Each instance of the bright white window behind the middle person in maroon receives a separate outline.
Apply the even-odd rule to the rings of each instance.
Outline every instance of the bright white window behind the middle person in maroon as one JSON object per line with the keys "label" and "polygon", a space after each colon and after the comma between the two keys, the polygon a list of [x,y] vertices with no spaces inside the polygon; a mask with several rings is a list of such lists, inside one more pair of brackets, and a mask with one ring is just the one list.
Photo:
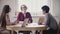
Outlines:
{"label": "bright white window behind the middle person in maroon", "polygon": [[41,7],[44,5],[48,5],[48,0],[18,0],[19,11],[21,5],[23,4],[28,7],[27,11],[30,12],[32,16],[41,16]]}

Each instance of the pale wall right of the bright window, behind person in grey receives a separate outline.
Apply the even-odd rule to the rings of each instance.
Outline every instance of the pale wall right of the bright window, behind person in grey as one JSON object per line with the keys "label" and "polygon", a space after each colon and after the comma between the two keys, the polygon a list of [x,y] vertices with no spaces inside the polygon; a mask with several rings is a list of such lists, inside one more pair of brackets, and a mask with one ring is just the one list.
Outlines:
{"label": "pale wall right of the bright window, behind person in grey", "polygon": [[60,0],[52,0],[52,14],[60,21]]}

